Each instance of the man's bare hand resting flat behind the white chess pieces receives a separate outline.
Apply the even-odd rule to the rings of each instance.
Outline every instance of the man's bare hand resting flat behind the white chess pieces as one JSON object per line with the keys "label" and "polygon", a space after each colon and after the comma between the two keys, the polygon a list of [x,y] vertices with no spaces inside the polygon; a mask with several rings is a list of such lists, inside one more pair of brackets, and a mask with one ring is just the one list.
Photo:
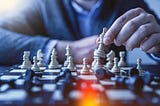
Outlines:
{"label": "man's bare hand resting flat behind the white chess pieces", "polygon": [[91,36],[83,38],[77,41],[59,41],[56,49],[58,52],[58,59],[60,62],[65,60],[65,48],[67,45],[71,47],[71,54],[75,64],[82,63],[84,57],[87,58],[87,62],[90,64],[93,59],[93,52],[97,48],[96,39],[98,36]]}

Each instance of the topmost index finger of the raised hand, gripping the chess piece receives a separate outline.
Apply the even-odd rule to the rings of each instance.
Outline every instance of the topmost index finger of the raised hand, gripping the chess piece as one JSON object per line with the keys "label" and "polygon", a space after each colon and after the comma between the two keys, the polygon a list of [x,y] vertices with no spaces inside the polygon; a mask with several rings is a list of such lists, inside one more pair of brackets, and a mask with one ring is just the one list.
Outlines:
{"label": "topmost index finger of the raised hand, gripping the chess piece", "polygon": [[123,14],[121,17],[119,17],[109,28],[109,30],[106,32],[104,36],[104,44],[108,45],[113,43],[114,39],[116,38],[117,34],[120,32],[122,27],[131,19],[134,17],[137,17],[141,13],[145,13],[145,11],[141,8],[132,9],[125,14]]}

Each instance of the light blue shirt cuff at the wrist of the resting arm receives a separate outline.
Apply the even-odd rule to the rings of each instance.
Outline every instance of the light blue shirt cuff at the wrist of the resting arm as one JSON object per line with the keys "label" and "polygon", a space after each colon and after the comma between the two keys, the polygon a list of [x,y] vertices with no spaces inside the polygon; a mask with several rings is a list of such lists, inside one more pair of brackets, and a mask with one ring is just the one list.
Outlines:
{"label": "light blue shirt cuff at the wrist of the resting arm", "polygon": [[58,40],[50,40],[47,45],[45,46],[44,48],[44,61],[46,64],[49,64],[49,61],[50,61],[50,56],[51,56],[51,53],[52,53],[52,50],[53,48],[56,47],[56,44],[57,44]]}

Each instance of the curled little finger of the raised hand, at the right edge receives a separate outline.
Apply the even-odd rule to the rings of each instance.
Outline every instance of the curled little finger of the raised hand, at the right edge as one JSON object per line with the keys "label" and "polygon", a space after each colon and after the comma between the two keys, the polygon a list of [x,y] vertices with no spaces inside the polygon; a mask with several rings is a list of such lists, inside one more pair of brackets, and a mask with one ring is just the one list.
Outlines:
{"label": "curled little finger of the raised hand, at the right edge", "polygon": [[160,33],[151,35],[140,45],[140,48],[149,53],[158,51],[160,49]]}

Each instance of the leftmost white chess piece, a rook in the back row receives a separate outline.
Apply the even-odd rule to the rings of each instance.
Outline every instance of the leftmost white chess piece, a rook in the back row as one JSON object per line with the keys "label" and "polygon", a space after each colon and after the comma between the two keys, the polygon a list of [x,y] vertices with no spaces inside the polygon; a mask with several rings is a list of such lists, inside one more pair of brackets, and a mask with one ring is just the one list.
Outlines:
{"label": "leftmost white chess piece, a rook in the back row", "polygon": [[31,61],[29,60],[29,57],[30,57],[30,51],[24,51],[24,54],[23,54],[23,63],[20,66],[21,69],[31,68],[32,64],[31,64]]}

